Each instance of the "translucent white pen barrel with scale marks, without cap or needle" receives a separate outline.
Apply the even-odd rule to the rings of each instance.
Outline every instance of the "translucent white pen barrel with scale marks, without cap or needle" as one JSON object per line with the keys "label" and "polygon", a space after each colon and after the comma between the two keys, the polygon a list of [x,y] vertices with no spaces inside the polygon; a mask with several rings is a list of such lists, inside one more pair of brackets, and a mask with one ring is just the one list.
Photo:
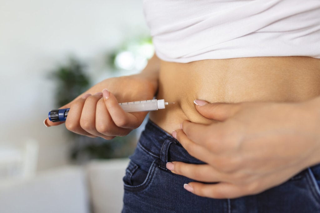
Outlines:
{"label": "translucent white pen barrel with scale marks, without cap or needle", "polygon": [[156,99],[119,103],[119,105],[125,112],[145,112],[158,110],[158,101]]}

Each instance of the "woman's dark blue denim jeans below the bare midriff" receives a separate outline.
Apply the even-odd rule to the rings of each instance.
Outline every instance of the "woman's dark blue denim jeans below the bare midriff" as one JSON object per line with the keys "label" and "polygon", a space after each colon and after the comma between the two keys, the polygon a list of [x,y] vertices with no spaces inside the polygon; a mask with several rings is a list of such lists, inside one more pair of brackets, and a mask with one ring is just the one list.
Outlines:
{"label": "woman's dark blue denim jeans below the bare midriff", "polygon": [[183,188],[191,179],[173,174],[165,165],[172,161],[203,162],[151,121],[130,159],[123,178],[122,212],[320,212],[320,164],[260,194],[237,199],[200,197]]}

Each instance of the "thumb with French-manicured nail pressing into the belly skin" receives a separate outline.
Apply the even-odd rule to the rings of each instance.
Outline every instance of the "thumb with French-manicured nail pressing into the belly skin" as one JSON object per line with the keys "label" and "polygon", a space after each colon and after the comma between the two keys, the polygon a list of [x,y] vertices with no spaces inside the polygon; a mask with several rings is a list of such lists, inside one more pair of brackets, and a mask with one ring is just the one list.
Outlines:
{"label": "thumb with French-manicured nail pressing into the belly skin", "polygon": [[216,121],[224,121],[234,114],[236,114],[241,105],[227,104],[227,103],[208,103],[204,100],[195,100],[196,109],[198,112],[206,118],[213,119]]}

